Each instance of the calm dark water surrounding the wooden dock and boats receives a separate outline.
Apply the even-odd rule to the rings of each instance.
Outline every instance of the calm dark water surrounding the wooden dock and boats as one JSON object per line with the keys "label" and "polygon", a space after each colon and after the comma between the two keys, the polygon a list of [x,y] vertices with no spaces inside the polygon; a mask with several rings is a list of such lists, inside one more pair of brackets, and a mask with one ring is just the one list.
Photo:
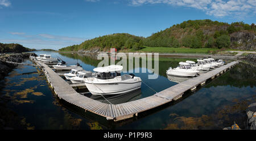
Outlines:
{"label": "calm dark water surrounding the wooden dock and boats", "polygon": [[[35,52],[51,54],[66,61],[68,65],[80,63],[85,70],[93,71],[101,60],[95,56],[79,56],[71,53]],[[148,80],[147,73],[134,73],[141,77],[152,89],[160,92],[177,82],[166,76],[169,67],[176,67],[180,61],[196,59],[177,59],[159,57],[159,77]],[[27,60],[26,63],[31,63]],[[142,68],[135,68],[141,70]],[[193,93],[187,93],[177,102],[139,113],[139,116],[121,122],[106,121],[98,115],[84,113],[83,110],[59,101],[49,89],[44,76],[32,66],[19,66],[0,81],[2,119],[14,128],[27,129],[222,129],[234,121],[243,128],[246,121],[245,109],[256,101],[255,67],[240,63],[229,72],[207,82]],[[177,79],[177,78],[176,78]],[[176,80],[175,79],[175,80]],[[178,78],[179,79],[179,78]],[[127,102],[155,94],[142,83],[141,90],[113,102]],[[88,94],[88,97],[90,94]],[[8,121],[9,120],[9,121]]]}

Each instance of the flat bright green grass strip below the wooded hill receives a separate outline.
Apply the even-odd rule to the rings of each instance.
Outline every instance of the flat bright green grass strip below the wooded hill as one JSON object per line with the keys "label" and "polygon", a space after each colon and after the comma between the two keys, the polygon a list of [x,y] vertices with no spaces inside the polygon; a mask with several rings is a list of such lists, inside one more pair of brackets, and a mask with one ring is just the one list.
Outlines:
{"label": "flat bright green grass strip below the wooded hill", "polygon": [[141,52],[159,52],[159,53],[204,53],[216,52],[218,48],[171,48],[171,47],[144,47],[138,51]]}

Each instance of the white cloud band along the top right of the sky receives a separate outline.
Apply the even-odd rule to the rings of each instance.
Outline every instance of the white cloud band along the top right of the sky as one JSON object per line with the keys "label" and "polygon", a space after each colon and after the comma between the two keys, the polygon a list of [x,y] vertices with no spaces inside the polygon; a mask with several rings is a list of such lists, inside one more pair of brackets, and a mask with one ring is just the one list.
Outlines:
{"label": "white cloud band along the top right of the sky", "polygon": [[130,0],[130,3],[133,6],[162,3],[172,6],[192,7],[217,17],[242,17],[256,13],[256,0]]}

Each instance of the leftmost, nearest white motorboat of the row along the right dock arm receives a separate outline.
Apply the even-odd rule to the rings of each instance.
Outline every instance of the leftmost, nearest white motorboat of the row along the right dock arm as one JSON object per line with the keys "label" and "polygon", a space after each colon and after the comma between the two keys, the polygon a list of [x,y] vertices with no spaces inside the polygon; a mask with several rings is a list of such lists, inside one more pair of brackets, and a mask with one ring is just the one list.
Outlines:
{"label": "leftmost, nearest white motorboat of the row along the right dock arm", "polygon": [[171,67],[166,71],[166,74],[171,76],[182,76],[182,77],[190,77],[199,75],[199,71],[196,69],[192,69],[190,64],[180,62],[179,67],[172,69]]}

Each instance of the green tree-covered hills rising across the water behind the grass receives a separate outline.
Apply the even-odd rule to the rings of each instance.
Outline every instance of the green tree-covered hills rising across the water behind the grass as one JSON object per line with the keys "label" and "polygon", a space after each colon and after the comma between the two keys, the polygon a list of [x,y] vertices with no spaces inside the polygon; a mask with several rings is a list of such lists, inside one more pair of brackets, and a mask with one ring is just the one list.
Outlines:
{"label": "green tree-covered hills rising across the water behind the grass", "polygon": [[[230,35],[238,31],[250,32],[255,35],[256,27],[254,24],[243,22],[228,24],[209,19],[187,20],[156,32],[147,38],[130,34],[111,34],[61,48],[59,51],[79,51],[93,47],[98,47],[101,50],[117,48],[118,51],[122,49],[138,51],[144,47],[230,48],[238,45],[230,40]],[[255,43],[255,40],[253,42]]]}

